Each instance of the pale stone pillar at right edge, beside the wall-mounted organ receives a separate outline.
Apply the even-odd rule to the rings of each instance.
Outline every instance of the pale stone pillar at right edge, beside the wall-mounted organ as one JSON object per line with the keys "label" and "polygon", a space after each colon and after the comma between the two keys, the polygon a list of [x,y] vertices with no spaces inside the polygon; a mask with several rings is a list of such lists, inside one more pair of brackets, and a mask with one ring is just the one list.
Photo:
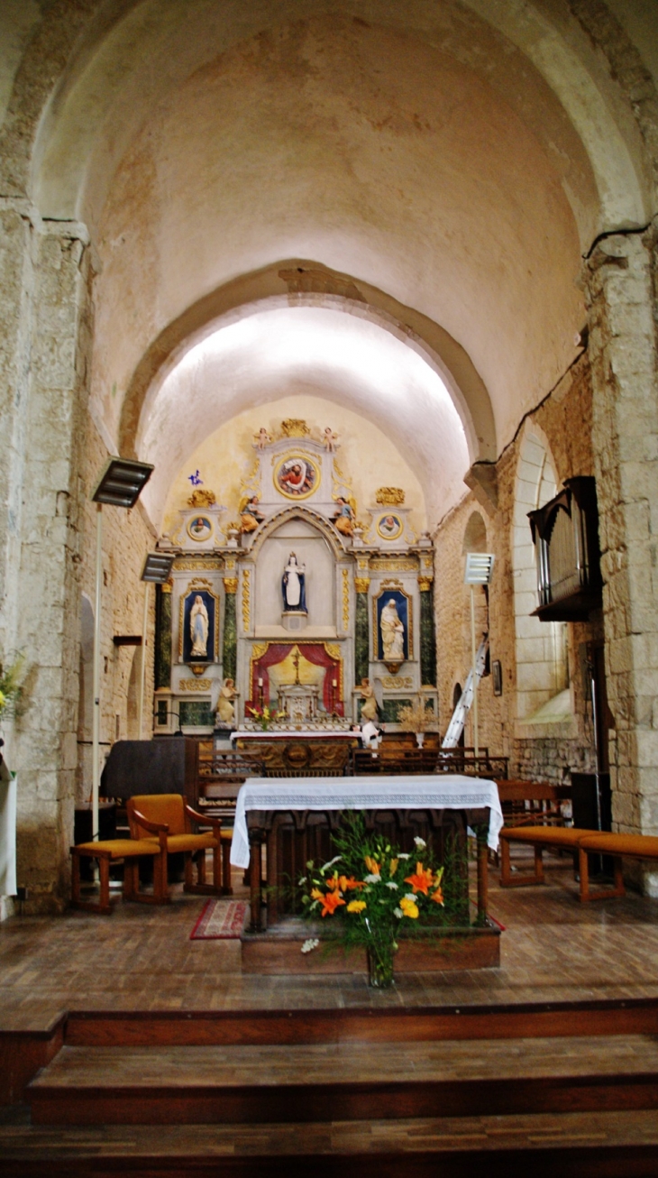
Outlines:
{"label": "pale stone pillar at right edge, beside the wall-mounted organ", "polygon": [[593,450],[614,717],[613,825],[658,834],[656,232],[601,240],[585,266]]}

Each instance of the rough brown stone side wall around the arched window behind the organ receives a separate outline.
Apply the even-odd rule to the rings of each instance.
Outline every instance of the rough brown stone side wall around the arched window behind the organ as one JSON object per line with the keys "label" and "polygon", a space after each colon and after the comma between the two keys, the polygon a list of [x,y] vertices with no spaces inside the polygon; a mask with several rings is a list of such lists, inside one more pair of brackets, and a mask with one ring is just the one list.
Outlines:
{"label": "rough brown stone side wall around the arched window behind the organ", "polygon": [[[477,633],[488,629],[490,657],[499,660],[503,670],[503,694],[494,696],[492,676],[485,676],[479,690],[479,743],[491,753],[510,757],[510,773],[534,780],[560,782],[569,770],[589,772],[593,768],[593,734],[590,706],[585,697],[583,677],[583,647],[603,636],[601,620],[570,623],[567,630],[569,697],[565,714],[561,707],[549,715],[537,716],[526,709],[525,701],[536,699],[537,706],[550,701],[563,684],[541,690],[543,681],[532,683],[529,674],[541,673],[541,651],[533,643],[547,641],[551,627],[533,623],[527,664],[519,663],[523,655],[523,616],[516,608],[518,569],[514,568],[513,545],[518,531],[530,537],[526,517],[527,503],[519,505],[519,485],[525,474],[524,439],[533,436],[545,441],[554,465],[558,485],[573,475],[590,475],[593,468],[592,389],[586,355],[577,362],[543,404],[521,424],[514,442],[507,446],[496,468],[497,508],[488,502],[488,511],[473,492],[441,523],[436,535],[436,609],[437,650],[440,691],[440,728],[445,732],[452,714],[454,683],[464,687],[471,666],[470,590],[464,584],[464,554],[468,550],[473,530],[473,514],[478,512],[486,530],[486,550],[494,554],[488,608],[483,589],[476,590]],[[538,475],[540,477],[540,475]],[[478,548],[483,550],[483,544]],[[536,575],[532,583],[521,587],[527,614],[537,604]],[[529,591],[526,591],[529,590]],[[487,624],[488,620],[488,624]],[[546,635],[546,640],[543,635]],[[519,641],[520,635],[520,641]],[[519,686],[519,669],[526,675]],[[550,682],[550,681],[549,681]],[[536,688],[532,693],[529,689]],[[472,716],[465,729],[466,744],[473,743]]]}

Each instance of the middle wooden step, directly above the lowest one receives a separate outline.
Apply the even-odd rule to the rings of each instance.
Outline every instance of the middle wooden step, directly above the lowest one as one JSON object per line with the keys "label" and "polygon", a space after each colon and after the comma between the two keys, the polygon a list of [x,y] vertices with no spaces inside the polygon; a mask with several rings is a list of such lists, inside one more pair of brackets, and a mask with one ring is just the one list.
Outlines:
{"label": "middle wooden step, directly above the lowest one", "polygon": [[650,1035],[208,1047],[65,1046],[38,1125],[239,1124],[658,1108]]}

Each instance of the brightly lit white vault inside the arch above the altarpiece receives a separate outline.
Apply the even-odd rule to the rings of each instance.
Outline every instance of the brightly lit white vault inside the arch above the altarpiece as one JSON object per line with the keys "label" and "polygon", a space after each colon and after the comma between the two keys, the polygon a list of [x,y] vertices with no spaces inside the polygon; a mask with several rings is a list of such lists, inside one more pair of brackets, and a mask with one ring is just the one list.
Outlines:
{"label": "brightly lit white vault inside the arch above the altarpiece", "polygon": [[155,465],[142,495],[155,525],[172,475],[208,434],[246,405],[294,393],[345,406],[391,438],[420,482],[430,527],[461,495],[464,428],[426,360],[366,319],[326,307],[278,307],[218,327],[145,405],[138,450]]}

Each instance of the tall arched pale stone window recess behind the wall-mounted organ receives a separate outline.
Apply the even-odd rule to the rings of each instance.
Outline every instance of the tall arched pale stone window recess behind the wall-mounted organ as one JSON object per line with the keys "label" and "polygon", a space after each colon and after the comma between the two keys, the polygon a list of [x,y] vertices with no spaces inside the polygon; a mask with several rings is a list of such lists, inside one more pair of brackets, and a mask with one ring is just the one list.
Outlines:
{"label": "tall arched pale stone window recess behind the wall-mounted organ", "polygon": [[517,716],[530,719],[541,704],[569,686],[565,622],[540,622],[537,609],[537,560],[527,512],[543,507],[558,490],[549,439],[526,423],[519,445],[512,522]]}

